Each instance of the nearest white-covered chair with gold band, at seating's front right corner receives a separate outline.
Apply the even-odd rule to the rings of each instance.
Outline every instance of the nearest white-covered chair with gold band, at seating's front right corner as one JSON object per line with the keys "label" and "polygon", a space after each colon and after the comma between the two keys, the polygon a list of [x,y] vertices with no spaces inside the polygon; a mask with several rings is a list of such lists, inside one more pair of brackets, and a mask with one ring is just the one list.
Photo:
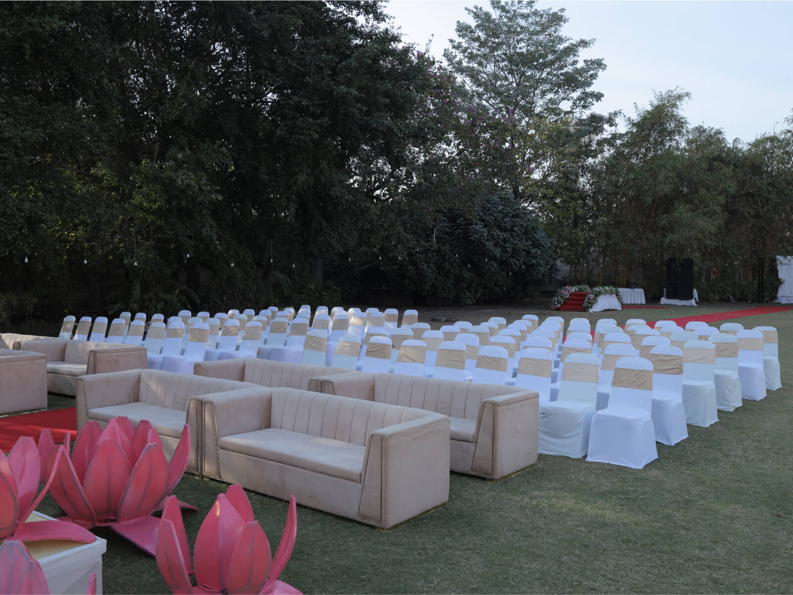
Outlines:
{"label": "nearest white-covered chair with gold band, at seating's front right corner", "polygon": [[608,406],[592,418],[587,460],[633,469],[656,460],[652,407],[653,364],[623,357],[614,370]]}

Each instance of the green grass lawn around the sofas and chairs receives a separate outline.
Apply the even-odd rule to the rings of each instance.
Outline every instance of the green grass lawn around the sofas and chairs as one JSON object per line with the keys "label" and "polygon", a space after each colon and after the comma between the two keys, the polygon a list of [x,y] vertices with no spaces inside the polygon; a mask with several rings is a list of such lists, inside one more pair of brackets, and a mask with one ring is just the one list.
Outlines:
{"label": "green grass lawn around the sofas and chairs", "polygon": [[[621,324],[731,309],[588,318]],[[423,312],[421,319],[509,320],[527,311],[550,314],[470,308]],[[304,593],[793,592],[793,311],[734,322],[779,330],[783,388],[719,411],[710,428],[688,426],[690,437],[658,444],[658,460],[645,469],[540,455],[534,467],[500,482],[453,473],[446,506],[390,532],[298,506],[297,544],[283,580]],[[53,397],[50,405],[71,404]],[[190,475],[179,483],[175,494],[201,509],[184,515],[191,544],[225,487]],[[286,502],[249,496],[277,547]],[[39,509],[58,513],[49,497]],[[109,530],[96,533],[108,540],[105,593],[167,592],[154,559]]]}

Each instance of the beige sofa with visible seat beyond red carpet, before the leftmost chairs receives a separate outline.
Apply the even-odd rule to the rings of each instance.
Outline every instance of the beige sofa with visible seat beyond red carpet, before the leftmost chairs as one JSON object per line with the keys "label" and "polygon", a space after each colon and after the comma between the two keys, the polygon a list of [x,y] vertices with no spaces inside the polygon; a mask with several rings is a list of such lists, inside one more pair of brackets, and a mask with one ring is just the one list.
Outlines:
{"label": "beige sofa with visible seat beyond red carpet, before the leftmost chairs", "polygon": [[18,341],[22,351],[47,356],[47,390],[60,395],[77,394],[77,378],[146,368],[146,348],[140,345],[98,343],[68,339]]}

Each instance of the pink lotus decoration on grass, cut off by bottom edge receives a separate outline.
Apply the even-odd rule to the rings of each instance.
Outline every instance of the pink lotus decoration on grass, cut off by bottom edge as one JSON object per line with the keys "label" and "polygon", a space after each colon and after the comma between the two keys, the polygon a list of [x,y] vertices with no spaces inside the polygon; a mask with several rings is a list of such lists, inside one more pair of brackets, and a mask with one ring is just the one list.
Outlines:
{"label": "pink lotus decoration on grass, cut off by bottom edge", "polygon": [[256,522],[242,486],[218,494],[201,524],[194,547],[197,586],[190,582],[190,546],[182,512],[174,496],[167,499],[157,536],[157,566],[171,593],[297,593],[278,576],[297,538],[297,505],[289,500],[284,534],[275,557]]}

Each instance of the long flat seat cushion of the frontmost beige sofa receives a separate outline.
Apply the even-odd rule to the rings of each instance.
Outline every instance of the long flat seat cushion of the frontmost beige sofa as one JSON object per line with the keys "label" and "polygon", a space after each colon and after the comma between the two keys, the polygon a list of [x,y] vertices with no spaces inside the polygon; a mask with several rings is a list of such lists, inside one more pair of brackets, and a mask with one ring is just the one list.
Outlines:
{"label": "long flat seat cushion of the frontmost beige sofa", "polygon": [[233,434],[221,438],[218,446],[351,482],[361,482],[366,451],[358,444],[276,428]]}

